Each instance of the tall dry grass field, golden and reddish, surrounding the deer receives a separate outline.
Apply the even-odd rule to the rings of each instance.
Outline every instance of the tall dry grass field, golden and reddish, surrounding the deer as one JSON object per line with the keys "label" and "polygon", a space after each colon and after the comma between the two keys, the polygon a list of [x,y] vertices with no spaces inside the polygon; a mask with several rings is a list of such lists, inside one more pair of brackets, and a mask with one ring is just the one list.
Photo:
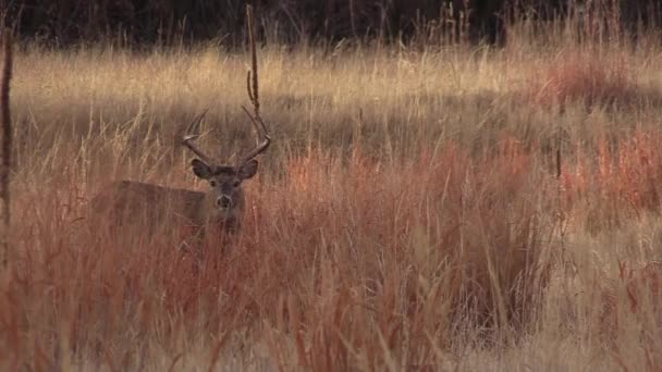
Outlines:
{"label": "tall dry grass field, golden and reddish, surrounding the deer", "polygon": [[175,136],[253,144],[248,55],[21,45],[1,369],[662,369],[662,47],[554,35],[262,47],[274,142],[201,266],[87,202],[204,189]]}

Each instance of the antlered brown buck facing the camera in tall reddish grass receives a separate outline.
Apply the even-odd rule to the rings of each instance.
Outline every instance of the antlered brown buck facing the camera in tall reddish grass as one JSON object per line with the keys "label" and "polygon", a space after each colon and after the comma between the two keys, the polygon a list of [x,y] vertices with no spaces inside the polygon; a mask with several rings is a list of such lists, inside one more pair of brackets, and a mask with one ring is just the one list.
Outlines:
{"label": "antlered brown buck facing the camera in tall reddish grass", "polygon": [[255,158],[271,144],[271,137],[259,112],[257,57],[250,8],[247,12],[253,69],[248,72],[246,85],[253,113],[245,107],[242,109],[258,134],[258,145],[241,157],[234,165],[218,163],[194,144],[199,137],[197,132],[205,111],[188,124],[180,140],[198,157],[191,162],[191,166],[197,177],[209,183],[207,193],[120,181],[110,184],[91,200],[91,208],[97,218],[110,220],[112,226],[133,225],[142,231],[154,231],[159,226],[170,228],[172,226],[166,222],[172,221],[172,218],[175,218],[175,223],[180,226],[184,224],[203,232],[210,227],[230,232],[240,230],[245,204],[243,182],[257,173],[258,161]]}

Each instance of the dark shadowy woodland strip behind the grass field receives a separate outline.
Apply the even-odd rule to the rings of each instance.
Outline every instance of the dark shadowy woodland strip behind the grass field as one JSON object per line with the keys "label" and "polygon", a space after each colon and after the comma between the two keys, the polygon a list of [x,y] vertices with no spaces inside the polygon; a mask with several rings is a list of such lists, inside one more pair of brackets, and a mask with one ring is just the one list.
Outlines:
{"label": "dark shadowy woodland strip behind the grass field", "polygon": [[[255,0],[263,36],[280,42],[407,41],[421,33],[504,42],[505,26],[593,12],[636,34],[662,24],[651,0]],[[173,45],[244,40],[245,0],[0,0],[5,27],[23,38],[66,46],[98,40]],[[608,22],[605,20],[605,22]]]}

